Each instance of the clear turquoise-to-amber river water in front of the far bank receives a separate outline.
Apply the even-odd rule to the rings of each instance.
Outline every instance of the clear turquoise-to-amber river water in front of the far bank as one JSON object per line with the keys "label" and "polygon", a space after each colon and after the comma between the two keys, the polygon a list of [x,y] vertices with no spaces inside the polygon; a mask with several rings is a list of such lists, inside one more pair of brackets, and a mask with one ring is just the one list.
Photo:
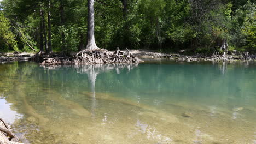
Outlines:
{"label": "clear turquoise-to-amber river water in front of the far bank", "polygon": [[0,64],[24,143],[256,143],[256,63]]}

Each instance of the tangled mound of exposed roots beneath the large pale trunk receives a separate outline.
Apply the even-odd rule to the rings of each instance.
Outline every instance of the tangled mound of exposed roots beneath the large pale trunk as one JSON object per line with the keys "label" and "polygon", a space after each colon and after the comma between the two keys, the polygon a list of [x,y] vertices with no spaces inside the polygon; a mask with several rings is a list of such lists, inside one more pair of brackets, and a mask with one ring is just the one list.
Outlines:
{"label": "tangled mound of exposed roots beneath the large pale trunk", "polygon": [[[121,52],[119,49],[112,52],[106,49],[95,49],[89,51],[88,49],[82,50],[75,55],[53,55],[51,57],[44,55],[37,55],[41,59],[43,65],[60,65],[60,64],[106,64],[106,63],[138,63],[143,62],[136,56],[133,56],[127,49],[127,54]],[[42,58],[43,56],[43,58]]]}

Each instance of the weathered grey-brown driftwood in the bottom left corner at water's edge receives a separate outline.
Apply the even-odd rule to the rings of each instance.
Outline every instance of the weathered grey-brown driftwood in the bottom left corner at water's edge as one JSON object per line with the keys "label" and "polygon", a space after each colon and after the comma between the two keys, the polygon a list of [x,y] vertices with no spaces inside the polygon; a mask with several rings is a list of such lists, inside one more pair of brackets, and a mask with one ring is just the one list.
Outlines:
{"label": "weathered grey-brown driftwood in the bottom left corner at water's edge", "polygon": [[5,121],[0,118],[0,144],[19,144],[18,137],[11,131]]}

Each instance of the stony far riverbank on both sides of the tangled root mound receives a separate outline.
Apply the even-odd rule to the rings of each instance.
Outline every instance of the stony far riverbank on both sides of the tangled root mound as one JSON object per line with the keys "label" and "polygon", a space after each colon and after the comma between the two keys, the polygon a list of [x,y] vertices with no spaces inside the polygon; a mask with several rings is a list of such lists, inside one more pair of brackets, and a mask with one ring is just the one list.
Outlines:
{"label": "stony far riverbank on both sides of the tangled root mound", "polygon": [[[127,53],[126,50],[121,50],[123,53]],[[139,58],[167,58],[173,61],[181,62],[193,62],[193,61],[256,61],[256,53],[249,55],[251,59],[246,59],[245,56],[236,53],[227,54],[225,56],[213,55],[207,56],[202,54],[185,55],[180,53],[161,53],[155,50],[138,49],[130,50],[131,54]],[[14,62],[14,61],[32,61],[34,53],[6,53],[6,55],[0,57],[0,63]]]}

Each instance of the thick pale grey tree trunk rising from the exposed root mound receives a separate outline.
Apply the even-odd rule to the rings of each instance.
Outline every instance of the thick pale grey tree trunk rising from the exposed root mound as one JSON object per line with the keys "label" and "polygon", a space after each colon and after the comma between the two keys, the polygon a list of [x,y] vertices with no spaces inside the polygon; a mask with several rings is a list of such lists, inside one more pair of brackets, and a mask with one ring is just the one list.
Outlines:
{"label": "thick pale grey tree trunk rising from the exposed root mound", "polygon": [[93,52],[98,49],[94,38],[94,0],[87,0],[88,20],[87,20],[87,45],[86,50]]}

